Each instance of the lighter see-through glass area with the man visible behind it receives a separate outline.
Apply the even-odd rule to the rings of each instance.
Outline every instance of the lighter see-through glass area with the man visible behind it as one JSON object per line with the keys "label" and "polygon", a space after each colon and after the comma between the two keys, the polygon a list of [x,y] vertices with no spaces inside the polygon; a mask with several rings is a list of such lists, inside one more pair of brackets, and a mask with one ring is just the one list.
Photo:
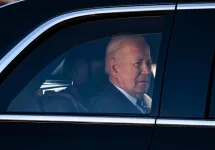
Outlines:
{"label": "lighter see-through glass area with the man visible behind it", "polygon": [[[69,49],[25,86],[8,112],[150,114],[161,35],[118,34]],[[36,90],[26,100],[29,88]]]}

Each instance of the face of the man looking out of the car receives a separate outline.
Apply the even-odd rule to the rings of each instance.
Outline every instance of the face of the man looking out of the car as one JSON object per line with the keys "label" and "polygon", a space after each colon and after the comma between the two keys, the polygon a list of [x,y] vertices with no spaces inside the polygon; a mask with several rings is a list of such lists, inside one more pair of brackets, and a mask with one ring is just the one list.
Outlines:
{"label": "face of the man looking out of the car", "polygon": [[147,93],[152,64],[149,46],[142,42],[128,42],[119,53],[119,86],[132,95]]}

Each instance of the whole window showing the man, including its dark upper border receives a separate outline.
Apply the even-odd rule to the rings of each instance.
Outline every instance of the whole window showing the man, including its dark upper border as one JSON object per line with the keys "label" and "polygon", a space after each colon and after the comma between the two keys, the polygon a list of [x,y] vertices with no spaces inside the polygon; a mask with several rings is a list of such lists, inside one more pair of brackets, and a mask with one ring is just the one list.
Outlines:
{"label": "whole window showing the man, including its dark upper border", "polygon": [[0,93],[10,88],[6,111],[153,114],[153,85],[162,78],[156,70],[165,61],[160,46],[168,41],[164,20],[158,15],[69,23],[49,32],[9,67]]}

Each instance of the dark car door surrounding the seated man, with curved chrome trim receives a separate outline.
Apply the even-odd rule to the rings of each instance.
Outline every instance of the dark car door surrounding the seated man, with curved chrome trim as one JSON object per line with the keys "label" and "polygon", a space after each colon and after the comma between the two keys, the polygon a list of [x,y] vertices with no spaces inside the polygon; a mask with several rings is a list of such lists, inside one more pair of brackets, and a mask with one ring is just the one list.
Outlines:
{"label": "dark car door surrounding the seated man, with curved chrome trim", "polygon": [[[174,10],[175,5],[86,9],[59,14],[38,26],[0,60],[1,147],[148,149],[158,114]],[[29,105],[35,91],[68,51],[86,59],[104,58],[103,53],[97,56],[105,52],[102,42],[118,33],[143,34],[151,47],[156,78],[149,115],[45,113],[30,109],[37,107],[36,103]],[[94,47],[91,42],[95,42]]]}

